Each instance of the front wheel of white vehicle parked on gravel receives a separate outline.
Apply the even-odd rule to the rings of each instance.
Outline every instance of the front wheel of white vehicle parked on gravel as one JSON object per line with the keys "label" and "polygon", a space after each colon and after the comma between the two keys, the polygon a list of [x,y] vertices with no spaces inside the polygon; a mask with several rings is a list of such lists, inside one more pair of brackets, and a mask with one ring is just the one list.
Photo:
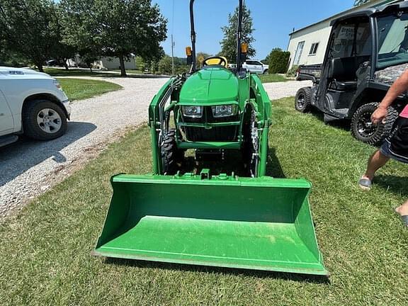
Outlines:
{"label": "front wheel of white vehicle parked on gravel", "polygon": [[53,140],[67,131],[67,116],[56,103],[31,101],[23,110],[23,129],[34,140]]}

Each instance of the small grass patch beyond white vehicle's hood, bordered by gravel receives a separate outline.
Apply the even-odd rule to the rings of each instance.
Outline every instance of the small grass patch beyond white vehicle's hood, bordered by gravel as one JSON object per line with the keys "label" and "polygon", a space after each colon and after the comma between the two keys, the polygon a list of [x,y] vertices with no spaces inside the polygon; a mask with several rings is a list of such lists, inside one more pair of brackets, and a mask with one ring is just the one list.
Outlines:
{"label": "small grass patch beyond white vehicle's hood, bordered by gravel", "polygon": [[69,100],[82,100],[122,89],[122,86],[108,81],[89,79],[58,79]]}

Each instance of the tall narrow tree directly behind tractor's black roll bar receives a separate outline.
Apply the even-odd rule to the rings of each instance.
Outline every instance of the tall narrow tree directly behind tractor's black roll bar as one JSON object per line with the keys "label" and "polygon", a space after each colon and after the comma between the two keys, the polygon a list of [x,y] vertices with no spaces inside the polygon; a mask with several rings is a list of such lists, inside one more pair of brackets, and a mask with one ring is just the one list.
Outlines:
{"label": "tall narrow tree directly behind tractor's black roll bar", "polygon": [[[220,55],[227,57],[228,62],[235,62],[237,60],[237,29],[238,29],[238,13],[239,7],[235,8],[234,13],[228,16],[228,26],[222,27],[224,38],[221,40]],[[244,5],[242,9],[242,42],[248,43],[248,56],[254,57],[256,51],[253,47],[255,38],[252,33],[252,17],[251,11]]]}

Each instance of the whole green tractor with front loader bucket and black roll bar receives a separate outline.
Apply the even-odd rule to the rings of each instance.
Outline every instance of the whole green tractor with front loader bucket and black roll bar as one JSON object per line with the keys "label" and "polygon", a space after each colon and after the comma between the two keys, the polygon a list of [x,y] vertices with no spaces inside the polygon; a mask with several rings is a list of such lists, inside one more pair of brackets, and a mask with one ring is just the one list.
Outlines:
{"label": "whole green tractor with front loader bucket and black roll bar", "polygon": [[[237,66],[210,57],[172,77],[149,106],[152,175],[113,176],[113,198],[95,254],[101,256],[327,275],[310,214],[310,183],[266,176],[271,101],[242,69],[246,44],[239,0]],[[186,151],[210,166],[183,171]],[[228,153],[244,166],[220,171]],[[216,157],[216,159],[214,158]]]}

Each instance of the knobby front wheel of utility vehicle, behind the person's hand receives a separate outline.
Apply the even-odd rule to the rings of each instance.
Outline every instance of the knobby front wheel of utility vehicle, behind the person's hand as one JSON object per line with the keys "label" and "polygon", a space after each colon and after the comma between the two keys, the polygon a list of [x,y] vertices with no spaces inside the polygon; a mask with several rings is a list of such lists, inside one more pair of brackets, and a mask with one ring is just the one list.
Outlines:
{"label": "knobby front wheel of utility vehicle, behind the person's hand", "polygon": [[364,104],[357,109],[351,119],[351,134],[356,140],[365,142],[368,145],[381,145],[385,138],[392,132],[395,120],[398,118],[398,111],[390,106],[385,123],[373,125],[371,115],[378,108],[377,102]]}

